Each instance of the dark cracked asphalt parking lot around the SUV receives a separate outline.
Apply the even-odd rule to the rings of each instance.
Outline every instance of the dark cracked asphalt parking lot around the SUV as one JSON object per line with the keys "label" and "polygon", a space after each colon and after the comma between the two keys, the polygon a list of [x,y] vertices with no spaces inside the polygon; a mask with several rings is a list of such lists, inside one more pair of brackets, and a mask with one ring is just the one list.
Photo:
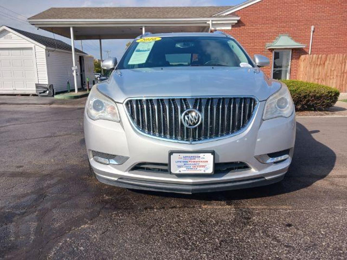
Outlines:
{"label": "dark cracked asphalt parking lot around the SUV", "polygon": [[347,118],[299,118],[274,185],[140,192],[88,174],[79,107],[0,106],[0,259],[346,259]]}

